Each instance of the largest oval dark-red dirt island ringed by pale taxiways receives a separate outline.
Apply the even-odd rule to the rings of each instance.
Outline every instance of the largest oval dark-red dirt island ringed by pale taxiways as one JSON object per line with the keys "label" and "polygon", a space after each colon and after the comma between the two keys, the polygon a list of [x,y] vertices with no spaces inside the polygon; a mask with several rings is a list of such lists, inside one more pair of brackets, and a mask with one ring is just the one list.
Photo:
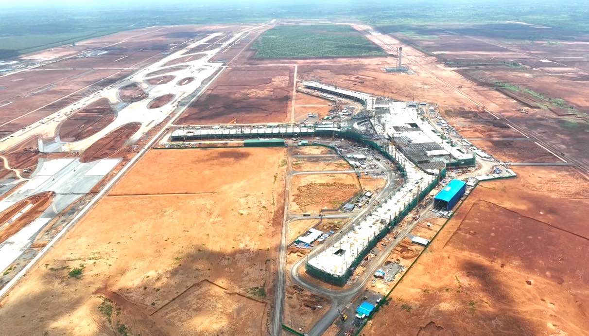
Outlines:
{"label": "largest oval dark-red dirt island ringed by pale taxiways", "polygon": [[114,118],[110,102],[101,98],[68,117],[59,126],[59,138],[65,142],[85,139],[104,129]]}

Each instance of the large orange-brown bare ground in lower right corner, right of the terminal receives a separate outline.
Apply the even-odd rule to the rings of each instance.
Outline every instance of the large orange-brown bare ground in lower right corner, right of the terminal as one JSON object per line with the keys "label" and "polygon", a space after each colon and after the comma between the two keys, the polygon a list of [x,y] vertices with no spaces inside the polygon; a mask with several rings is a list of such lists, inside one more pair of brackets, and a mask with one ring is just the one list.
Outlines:
{"label": "large orange-brown bare ground in lower right corner, right of the terminal", "polygon": [[477,186],[366,335],[393,325],[399,334],[584,334],[589,184],[566,168],[517,173]]}

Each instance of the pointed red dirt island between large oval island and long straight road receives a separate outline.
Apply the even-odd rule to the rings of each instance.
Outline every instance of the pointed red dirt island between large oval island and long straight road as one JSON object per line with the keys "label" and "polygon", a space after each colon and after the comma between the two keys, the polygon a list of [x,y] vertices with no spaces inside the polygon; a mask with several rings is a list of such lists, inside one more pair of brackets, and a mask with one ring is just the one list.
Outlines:
{"label": "pointed red dirt island between large oval island and long straight road", "polygon": [[137,132],[141,123],[128,123],[111,131],[106,136],[91,144],[80,157],[81,162],[106,159],[107,157],[122,156],[120,151],[125,147],[129,138]]}

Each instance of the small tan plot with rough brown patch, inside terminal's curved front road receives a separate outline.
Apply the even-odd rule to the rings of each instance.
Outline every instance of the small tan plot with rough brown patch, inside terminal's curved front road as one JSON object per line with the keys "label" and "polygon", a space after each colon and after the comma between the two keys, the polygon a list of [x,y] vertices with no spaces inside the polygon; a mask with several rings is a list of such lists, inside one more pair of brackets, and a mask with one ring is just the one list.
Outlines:
{"label": "small tan plot with rough brown patch, inside terminal's curved front road", "polygon": [[293,176],[290,190],[289,212],[319,213],[339,208],[360,186],[356,174],[310,174]]}

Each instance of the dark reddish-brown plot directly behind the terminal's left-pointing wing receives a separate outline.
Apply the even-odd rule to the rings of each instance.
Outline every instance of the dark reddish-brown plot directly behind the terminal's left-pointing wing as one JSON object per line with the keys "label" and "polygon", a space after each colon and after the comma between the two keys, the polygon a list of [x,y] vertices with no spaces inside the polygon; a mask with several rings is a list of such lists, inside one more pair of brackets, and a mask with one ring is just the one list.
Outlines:
{"label": "dark reddish-brown plot directly behind the terminal's left-pointing wing", "polygon": [[228,68],[177,124],[282,122],[292,85],[292,67]]}

